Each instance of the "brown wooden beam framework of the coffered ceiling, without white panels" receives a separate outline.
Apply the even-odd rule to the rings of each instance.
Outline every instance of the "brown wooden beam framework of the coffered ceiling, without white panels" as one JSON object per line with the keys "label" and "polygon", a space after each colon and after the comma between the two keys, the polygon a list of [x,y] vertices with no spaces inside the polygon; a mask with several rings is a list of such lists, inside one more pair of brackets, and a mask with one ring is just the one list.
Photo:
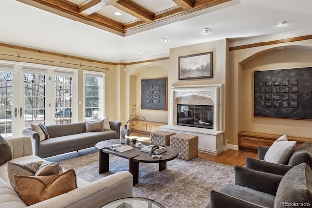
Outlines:
{"label": "brown wooden beam framework of the coffered ceiling, without white panels", "polygon": [[[177,4],[175,7],[157,12],[156,14],[142,8],[131,0],[85,0],[80,5],[68,0],[17,1],[124,36],[128,32],[146,27],[150,23],[170,20],[231,0],[172,0]],[[98,14],[98,9],[105,6],[105,4],[117,7],[125,13],[137,17],[138,20],[121,23]]]}

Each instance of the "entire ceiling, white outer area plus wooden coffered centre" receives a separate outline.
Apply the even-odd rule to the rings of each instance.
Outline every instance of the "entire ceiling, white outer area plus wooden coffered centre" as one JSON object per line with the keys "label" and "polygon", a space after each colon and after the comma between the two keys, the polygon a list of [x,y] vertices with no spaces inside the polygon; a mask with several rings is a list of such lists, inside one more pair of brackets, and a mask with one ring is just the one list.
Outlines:
{"label": "entire ceiling, white outer area plus wooden coffered centre", "polygon": [[233,47],[305,35],[312,0],[0,0],[0,44],[111,63],[216,40]]}

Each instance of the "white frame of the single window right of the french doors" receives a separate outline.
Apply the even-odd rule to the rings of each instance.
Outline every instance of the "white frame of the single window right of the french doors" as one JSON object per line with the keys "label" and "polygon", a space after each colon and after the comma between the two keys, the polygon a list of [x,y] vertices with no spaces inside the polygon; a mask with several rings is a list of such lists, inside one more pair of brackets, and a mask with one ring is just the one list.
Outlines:
{"label": "white frame of the single window right of the french doors", "polygon": [[[104,118],[106,115],[105,113],[105,73],[104,72],[97,72],[97,71],[88,71],[88,70],[83,70],[83,118],[85,119],[86,115],[86,105],[85,105],[85,91],[86,91],[86,76],[95,76],[95,77],[100,77],[102,78],[101,82],[101,104],[100,104],[100,117]],[[92,120],[92,119],[89,119]]]}

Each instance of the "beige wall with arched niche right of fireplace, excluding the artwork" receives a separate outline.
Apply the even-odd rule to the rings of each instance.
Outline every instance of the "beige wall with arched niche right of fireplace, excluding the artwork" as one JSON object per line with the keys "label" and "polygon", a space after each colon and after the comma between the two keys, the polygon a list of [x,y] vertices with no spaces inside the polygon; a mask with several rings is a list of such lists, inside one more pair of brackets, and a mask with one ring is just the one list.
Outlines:
{"label": "beige wall with arched niche right of fireplace, excluding the artwork", "polygon": [[[278,49],[280,46],[285,49]],[[227,129],[230,144],[237,144],[237,133],[242,130],[312,138],[312,120],[253,116],[254,71],[312,66],[312,40],[234,50],[229,54],[232,115],[228,119],[233,124]]]}

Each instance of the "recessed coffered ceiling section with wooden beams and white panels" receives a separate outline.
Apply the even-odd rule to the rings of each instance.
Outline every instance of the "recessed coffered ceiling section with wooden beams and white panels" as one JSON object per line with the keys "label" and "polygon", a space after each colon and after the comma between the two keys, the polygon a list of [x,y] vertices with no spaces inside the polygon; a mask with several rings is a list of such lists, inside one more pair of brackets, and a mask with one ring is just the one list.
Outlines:
{"label": "recessed coffered ceiling section with wooden beams and white panels", "polygon": [[[18,0],[118,35],[231,0]],[[176,19],[177,21],[178,19]],[[172,21],[171,21],[172,23]],[[163,24],[162,24],[163,25]],[[143,29],[144,30],[144,29]],[[131,32],[131,33],[130,33]]]}

